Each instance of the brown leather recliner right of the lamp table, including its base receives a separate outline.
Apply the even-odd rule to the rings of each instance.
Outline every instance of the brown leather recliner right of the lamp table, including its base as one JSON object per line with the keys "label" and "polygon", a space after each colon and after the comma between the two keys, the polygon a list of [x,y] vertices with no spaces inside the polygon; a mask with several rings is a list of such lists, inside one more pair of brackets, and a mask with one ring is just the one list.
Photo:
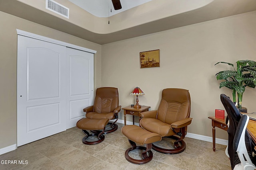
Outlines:
{"label": "brown leather recliner right of the lamp table, including its base", "polygon": [[187,126],[190,125],[190,94],[188,90],[179,88],[166,88],[162,91],[162,99],[158,110],[140,113],[143,117],[140,126],[161,137],[175,139],[174,149],[164,149],[152,144],[152,148],[165,154],[176,154],[186,149],[183,141]]}

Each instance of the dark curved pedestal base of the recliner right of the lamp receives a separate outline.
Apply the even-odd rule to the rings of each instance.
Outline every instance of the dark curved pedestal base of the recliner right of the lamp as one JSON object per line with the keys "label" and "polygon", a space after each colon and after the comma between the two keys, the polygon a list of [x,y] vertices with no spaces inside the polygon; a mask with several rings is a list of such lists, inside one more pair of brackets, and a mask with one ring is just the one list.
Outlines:
{"label": "dark curved pedestal base of the recliner right of the lamp", "polygon": [[[174,142],[175,149],[164,149],[161,147],[157,147],[156,145],[152,144],[152,149],[156,150],[157,152],[164,153],[164,154],[178,154],[183,152],[186,149],[186,143],[183,140],[179,141],[179,137],[170,136],[170,139],[176,139],[177,141]],[[180,143],[180,145],[179,145]]]}

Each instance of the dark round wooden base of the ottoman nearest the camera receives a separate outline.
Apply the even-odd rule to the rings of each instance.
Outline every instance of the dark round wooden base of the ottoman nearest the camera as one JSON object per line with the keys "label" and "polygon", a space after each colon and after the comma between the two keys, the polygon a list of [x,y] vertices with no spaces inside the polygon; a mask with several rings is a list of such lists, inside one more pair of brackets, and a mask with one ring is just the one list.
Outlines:
{"label": "dark round wooden base of the ottoman nearest the camera", "polygon": [[[145,163],[149,162],[150,160],[152,160],[152,158],[153,158],[153,152],[151,151],[152,143],[147,144],[147,147],[142,147],[142,146],[136,146],[136,143],[134,141],[131,141],[130,139],[128,139],[128,141],[132,147],[127,149],[125,152],[126,160],[128,160],[129,162],[132,162],[134,164],[145,164]],[[145,150],[141,154],[142,160],[133,159],[129,156],[129,152],[132,150],[135,150],[135,149]]]}

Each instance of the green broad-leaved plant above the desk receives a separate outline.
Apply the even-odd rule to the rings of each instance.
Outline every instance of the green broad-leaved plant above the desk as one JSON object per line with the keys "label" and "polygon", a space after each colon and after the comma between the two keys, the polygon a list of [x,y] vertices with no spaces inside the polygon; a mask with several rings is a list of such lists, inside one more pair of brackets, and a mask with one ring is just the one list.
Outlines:
{"label": "green broad-leaved plant above the desk", "polygon": [[[215,76],[220,82],[220,88],[227,87],[232,90],[233,102],[238,97],[238,109],[242,109],[242,98],[245,87],[255,88],[256,86],[256,62],[252,60],[240,60],[236,62],[236,69],[232,63],[218,62],[228,64],[234,70],[224,70],[218,72]],[[214,65],[216,65],[214,64]]]}

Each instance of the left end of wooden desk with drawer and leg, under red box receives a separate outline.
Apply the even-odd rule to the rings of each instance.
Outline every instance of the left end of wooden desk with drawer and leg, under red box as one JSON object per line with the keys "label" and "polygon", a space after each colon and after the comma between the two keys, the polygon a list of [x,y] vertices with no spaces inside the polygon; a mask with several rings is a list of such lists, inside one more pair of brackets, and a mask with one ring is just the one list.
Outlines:
{"label": "left end of wooden desk with drawer and leg, under red box", "polygon": [[223,129],[223,130],[225,130],[225,131],[227,131],[228,130],[228,125],[226,125],[226,117],[227,116],[225,116],[225,118],[224,119],[218,119],[218,118],[216,118],[216,117],[208,117],[209,119],[212,119],[212,145],[213,145],[213,147],[212,147],[212,149],[213,149],[213,151],[215,152],[215,127],[218,127],[218,128],[220,128],[220,129]]}

